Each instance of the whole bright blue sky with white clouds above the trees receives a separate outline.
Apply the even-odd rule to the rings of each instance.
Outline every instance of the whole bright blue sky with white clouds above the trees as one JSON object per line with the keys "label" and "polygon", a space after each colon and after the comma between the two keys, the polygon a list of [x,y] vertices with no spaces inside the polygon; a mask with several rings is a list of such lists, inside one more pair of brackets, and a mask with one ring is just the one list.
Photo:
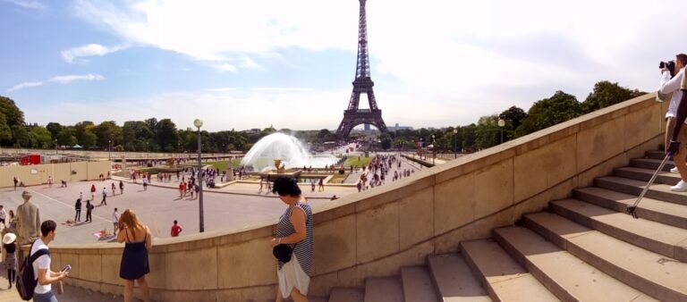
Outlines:
{"label": "whole bright blue sky with white clouds above the trees", "polygon": [[[687,52],[667,30],[685,28],[683,6],[369,0],[377,105],[387,125],[445,127],[527,110],[556,90],[583,100],[598,80],[653,91],[657,62]],[[358,10],[354,0],[0,0],[0,95],[43,125],[157,117],[335,130]]]}

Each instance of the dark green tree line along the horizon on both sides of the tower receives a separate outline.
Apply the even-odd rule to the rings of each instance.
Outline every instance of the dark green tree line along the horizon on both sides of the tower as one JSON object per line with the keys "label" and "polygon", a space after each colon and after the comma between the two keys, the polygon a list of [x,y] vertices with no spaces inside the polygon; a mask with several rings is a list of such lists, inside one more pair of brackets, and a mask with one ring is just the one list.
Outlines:
{"label": "dark green tree line along the horizon on both sides of the tower", "polygon": [[[643,94],[645,92],[623,88],[605,80],[596,83],[583,102],[563,91],[556,91],[553,96],[535,102],[528,112],[512,106],[502,113],[482,116],[477,122],[466,126],[397,130],[382,134],[379,140],[385,149],[412,149],[420,138],[427,144],[431,143],[434,135],[434,145],[438,151],[471,152],[498,145],[502,136],[503,141],[522,137]],[[498,120],[504,120],[505,126],[500,127]],[[276,131],[271,126],[262,130],[201,130],[200,139],[203,152],[245,152],[259,138]],[[315,145],[336,140],[335,133],[326,129],[279,131],[291,133]],[[83,149],[149,152],[195,152],[198,148],[197,131],[191,128],[177,129],[170,119],[127,121],[122,126],[114,121],[99,124],[82,121],[74,125],[49,122],[44,127],[25,123],[24,113],[14,101],[0,96],[0,146],[49,149],[75,145]]]}

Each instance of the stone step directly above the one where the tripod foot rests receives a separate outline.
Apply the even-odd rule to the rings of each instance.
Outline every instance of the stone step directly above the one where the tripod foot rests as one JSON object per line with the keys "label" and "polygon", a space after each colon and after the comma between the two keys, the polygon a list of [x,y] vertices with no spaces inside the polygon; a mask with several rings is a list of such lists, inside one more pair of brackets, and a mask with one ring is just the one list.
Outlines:
{"label": "stone step directly above the one where the tripod foot rests", "polygon": [[[594,184],[599,188],[612,189],[614,191],[640,196],[641,190],[644,189],[647,182],[607,176],[595,179]],[[645,197],[687,206],[687,192],[672,192],[669,185],[653,184],[649,188],[649,191],[647,191]]]}

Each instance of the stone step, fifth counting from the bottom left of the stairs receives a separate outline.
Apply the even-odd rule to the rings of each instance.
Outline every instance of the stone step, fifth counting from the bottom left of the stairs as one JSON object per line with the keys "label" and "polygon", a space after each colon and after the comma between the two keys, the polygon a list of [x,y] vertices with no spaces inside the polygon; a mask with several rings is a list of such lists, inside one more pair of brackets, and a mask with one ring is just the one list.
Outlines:
{"label": "stone step, fifth counting from the bottom left of the stairs", "polygon": [[461,242],[461,252],[496,301],[559,301],[491,239]]}

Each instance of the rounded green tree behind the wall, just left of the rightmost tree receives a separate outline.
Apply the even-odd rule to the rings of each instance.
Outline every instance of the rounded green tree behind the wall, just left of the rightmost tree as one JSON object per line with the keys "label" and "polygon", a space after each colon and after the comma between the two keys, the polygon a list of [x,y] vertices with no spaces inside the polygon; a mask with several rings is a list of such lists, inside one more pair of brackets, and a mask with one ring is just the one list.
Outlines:
{"label": "rounded green tree behind the wall, just left of the rightmost tree", "polygon": [[516,137],[542,130],[557,123],[572,120],[580,116],[582,105],[575,96],[556,91],[554,96],[539,100],[534,103],[528,112],[529,116],[522,125],[515,130]]}

